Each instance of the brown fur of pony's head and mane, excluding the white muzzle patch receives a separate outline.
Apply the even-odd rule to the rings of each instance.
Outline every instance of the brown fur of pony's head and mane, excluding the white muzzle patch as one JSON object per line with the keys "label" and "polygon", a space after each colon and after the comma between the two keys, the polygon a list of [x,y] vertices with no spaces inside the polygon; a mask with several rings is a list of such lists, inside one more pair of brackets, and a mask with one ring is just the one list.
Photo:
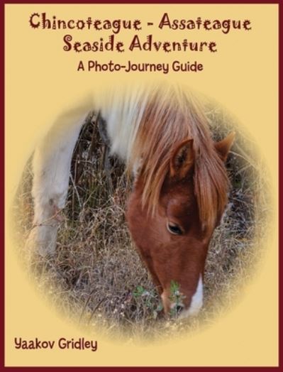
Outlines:
{"label": "brown fur of pony's head and mane, excluding the white muzzle patch", "polygon": [[[132,160],[142,158],[143,164],[127,220],[165,312],[170,310],[172,280],[180,285],[185,307],[196,292],[213,229],[227,201],[223,160],[233,142],[230,135],[213,143],[199,106],[187,97],[185,102],[187,106],[178,105],[175,92],[167,92],[165,98],[155,92],[133,146]],[[182,234],[172,234],[169,222]]]}

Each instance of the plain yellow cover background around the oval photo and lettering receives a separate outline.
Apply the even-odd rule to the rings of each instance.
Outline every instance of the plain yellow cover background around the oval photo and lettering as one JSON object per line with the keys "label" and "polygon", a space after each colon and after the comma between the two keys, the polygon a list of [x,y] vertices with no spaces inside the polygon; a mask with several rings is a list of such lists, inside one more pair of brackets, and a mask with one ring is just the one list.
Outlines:
{"label": "plain yellow cover background around the oval photo and lettering", "polygon": [[[192,33],[192,40],[212,40],[218,53],[65,53],[62,36],[92,40],[109,32],[33,30],[33,12],[57,18],[139,18],[157,23],[166,11],[171,18],[250,19],[253,31]],[[213,97],[238,116],[260,148],[270,170],[274,206],[277,205],[277,5],[6,5],[6,211],[13,200],[21,171],[38,139],[64,109],[82,100],[87,92],[153,80],[182,82]],[[129,40],[133,32],[117,35]],[[190,38],[185,31],[159,31],[144,27],[139,35],[155,38]],[[96,36],[97,35],[97,36]],[[127,36],[128,35],[128,36]],[[198,60],[204,71],[160,73],[77,72],[77,62],[164,62]],[[276,209],[276,208],[275,208]],[[9,218],[7,217],[7,221]],[[138,345],[94,335],[99,349],[91,351],[18,351],[13,338],[58,339],[88,337],[72,322],[60,317],[41,299],[30,283],[13,249],[6,224],[6,366],[276,366],[277,365],[277,219],[265,241],[264,262],[232,311],[210,328],[183,339]]]}

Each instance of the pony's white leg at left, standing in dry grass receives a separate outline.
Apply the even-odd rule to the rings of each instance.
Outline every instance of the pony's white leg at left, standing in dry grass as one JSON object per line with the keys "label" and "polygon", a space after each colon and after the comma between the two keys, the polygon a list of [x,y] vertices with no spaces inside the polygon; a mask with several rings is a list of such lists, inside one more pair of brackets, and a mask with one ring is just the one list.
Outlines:
{"label": "pony's white leg at left, standing in dry grass", "polygon": [[72,153],[86,109],[83,106],[58,117],[33,155],[34,226],[27,248],[36,249],[42,256],[55,251],[59,212],[65,206]]}

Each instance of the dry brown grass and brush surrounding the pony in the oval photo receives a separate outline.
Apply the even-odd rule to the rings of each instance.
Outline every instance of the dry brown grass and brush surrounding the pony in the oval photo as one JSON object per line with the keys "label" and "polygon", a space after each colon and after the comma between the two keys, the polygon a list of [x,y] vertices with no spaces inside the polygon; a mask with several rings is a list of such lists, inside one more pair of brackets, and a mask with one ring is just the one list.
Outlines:
{"label": "dry brown grass and brush surrounding the pony in the oval photo", "polygon": [[[18,251],[40,292],[81,327],[102,328],[126,339],[159,339],[211,324],[233,306],[254,273],[269,214],[268,179],[252,141],[215,105],[207,107],[215,139],[237,132],[227,167],[231,194],[223,223],[213,234],[206,262],[204,308],[188,320],[163,319],[160,299],[128,233],[124,210],[131,189],[123,165],[108,158],[99,131],[89,121],[72,160],[65,221],[54,255],[30,256],[24,242],[31,228],[30,164],[15,203]],[[217,134],[216,134],[217,133]],[[105,168],[105,163],[109,166]]]}

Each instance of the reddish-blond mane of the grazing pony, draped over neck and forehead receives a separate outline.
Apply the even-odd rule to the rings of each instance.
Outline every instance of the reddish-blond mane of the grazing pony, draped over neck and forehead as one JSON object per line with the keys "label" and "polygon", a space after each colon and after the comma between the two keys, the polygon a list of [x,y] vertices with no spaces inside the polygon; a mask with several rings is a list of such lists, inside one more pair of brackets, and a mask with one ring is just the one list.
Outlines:
{"label": "reddish-blond mane of the grazing pony, draped over neck and forehead", "polygon": [[204,106],[191,92],[171,85],[141,89],[131,102],[127,163],[130,169],[141,163],[138,177],[143,182],[143,207],[155,213],[172,151],[177,143],[193,138],[199,216],[202,224],[213,228],[227,202],[228,177],[213,145]]}

